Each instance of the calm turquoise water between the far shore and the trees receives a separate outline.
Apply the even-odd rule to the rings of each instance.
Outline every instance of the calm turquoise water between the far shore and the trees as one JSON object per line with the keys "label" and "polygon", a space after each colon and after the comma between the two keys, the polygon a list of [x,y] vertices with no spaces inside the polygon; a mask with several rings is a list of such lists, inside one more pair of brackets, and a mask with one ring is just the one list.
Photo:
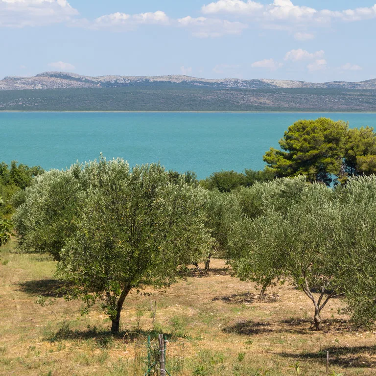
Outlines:
{"label": "calm turquoise water between the far shore and the trees", "polygon": [[131,165],[160,161],[201,179],[221,169],[262,169],[263,154],[289,125],[321,116],[376,128],[371,113],[0,112],[0,161],[65,168],[102,152]]}

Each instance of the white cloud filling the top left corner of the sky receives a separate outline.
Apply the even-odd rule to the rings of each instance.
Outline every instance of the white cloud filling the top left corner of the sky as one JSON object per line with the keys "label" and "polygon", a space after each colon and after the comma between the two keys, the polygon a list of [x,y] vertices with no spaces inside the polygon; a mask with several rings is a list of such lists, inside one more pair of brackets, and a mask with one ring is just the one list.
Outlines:
{"label": "white cloud filling the top left corner of the sky", "polygon": [[66,0],[0,0],[0,27],[44,26],[78,14]]}

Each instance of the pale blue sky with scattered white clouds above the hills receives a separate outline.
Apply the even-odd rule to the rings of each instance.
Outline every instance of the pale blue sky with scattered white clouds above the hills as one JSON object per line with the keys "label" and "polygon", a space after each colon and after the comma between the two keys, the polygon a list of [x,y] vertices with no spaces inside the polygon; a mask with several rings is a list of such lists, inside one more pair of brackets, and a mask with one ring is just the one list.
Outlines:
{"label": "pale blue sky with scattered white clouds above the hills", "polygon": [[0,78],[376,78],[375,0],[0,0]]}

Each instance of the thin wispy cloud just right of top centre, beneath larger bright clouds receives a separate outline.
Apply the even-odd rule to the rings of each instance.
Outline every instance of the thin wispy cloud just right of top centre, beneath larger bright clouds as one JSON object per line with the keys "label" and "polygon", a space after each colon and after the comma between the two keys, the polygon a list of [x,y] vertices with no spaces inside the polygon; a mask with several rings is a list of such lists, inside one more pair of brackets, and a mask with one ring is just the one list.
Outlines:
{"label": "thin wispy cloud just right of top centre, beneath larger bright clouds", "polygon": [[190,28],[192,35],[199,38],[215,38],[228,34],[240,34],[242,30],[248,27],[246,24],[240,22],[205,17],[192,18],[190,16],[178,19],[178,24],[181,27]]}

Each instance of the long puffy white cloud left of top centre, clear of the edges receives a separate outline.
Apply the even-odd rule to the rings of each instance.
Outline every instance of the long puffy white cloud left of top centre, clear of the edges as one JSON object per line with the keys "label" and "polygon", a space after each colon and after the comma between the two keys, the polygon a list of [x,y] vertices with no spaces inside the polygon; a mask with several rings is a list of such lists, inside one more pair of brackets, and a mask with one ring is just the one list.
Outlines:
{"label": "long puffy white cloud left of top centre, clear of the edges", "polygon": [[139,14],[127,14],[127,13],[111,13],[98,17],[94,20],[94,28],[99,27],[134,27],[138,24],[169,24],[169,18],[167,15],[158,10],[154,13],[146,12]]}

